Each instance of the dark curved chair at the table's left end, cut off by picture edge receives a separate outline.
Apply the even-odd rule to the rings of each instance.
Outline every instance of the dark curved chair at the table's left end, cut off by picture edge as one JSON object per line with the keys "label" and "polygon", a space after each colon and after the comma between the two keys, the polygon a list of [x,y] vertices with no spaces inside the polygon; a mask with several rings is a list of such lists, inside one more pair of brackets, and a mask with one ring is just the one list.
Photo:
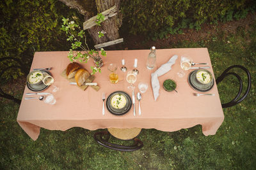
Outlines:
{"label": "dark curved chair at the table's left end, cut off by picture edge", "polygon": [[[14,63],[15,64],[12,64],[12,66],[7,66],[7,67],[4,67],[2,70],[1,70],[1,73],[0,73],[0,81],[2,81],[2,76],[3,74],[12,69],[12,68],[15,68],[15,69],[20,69],[20,71],[22,73],[25,73],[25,74],[28,74],[28,68],[26,68],[26,66],[24,66],[24,64],[21,62],[21,60],[15,58],[15,57],[3,57],[3,58],[0,58],[0,62],[4,62],[5,60],[11,60],[11,61],[15,61]],[[20,99],[17,99],[15,97],[13,97],[12,95],[10,94],[6,94],[0,87],[0,97],[4,97],[6,99],[10,99],[12,101],[14,101],[15,103],[17,104],[20,104]]]}

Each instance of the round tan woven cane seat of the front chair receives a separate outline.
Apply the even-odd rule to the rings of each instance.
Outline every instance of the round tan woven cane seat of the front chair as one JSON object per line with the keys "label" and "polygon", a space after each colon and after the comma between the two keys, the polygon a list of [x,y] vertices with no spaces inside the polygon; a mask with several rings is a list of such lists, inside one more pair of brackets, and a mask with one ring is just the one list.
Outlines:
{"label": "round tan woven cane seat of the front chair", "polygon": [[132,128],[108,128],[109,133],[115,138],[122,140],[130,140],[136,138],[141,132],[141,128],[132,127]]}

